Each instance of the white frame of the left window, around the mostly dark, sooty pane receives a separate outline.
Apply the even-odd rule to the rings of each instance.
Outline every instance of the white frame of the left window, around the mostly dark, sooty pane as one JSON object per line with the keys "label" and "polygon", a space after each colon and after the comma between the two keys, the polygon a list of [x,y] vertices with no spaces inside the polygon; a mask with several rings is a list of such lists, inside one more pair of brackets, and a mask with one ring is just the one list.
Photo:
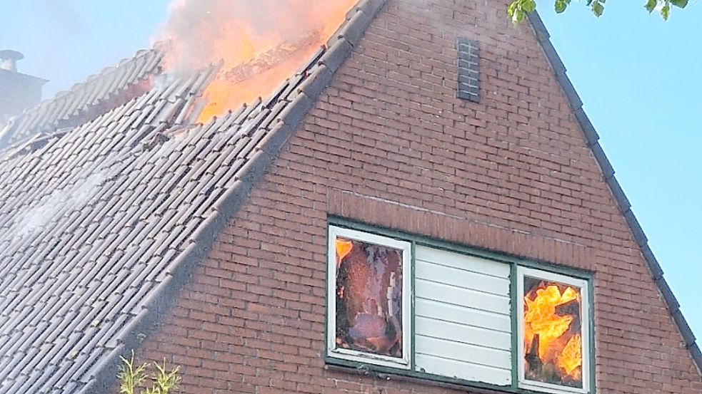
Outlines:
{"label": "white frame of the left window, around the mostly dark, sooty pane", "polygon": [[[351,349],[336,348],[336,238],[353,239],[402,251],[402,358],[381,356]],[[411,242],[344,227],[329,226],[327,250],[327,355],[358,363],[410,369],[412,353],[411,300],[412,300],[412,247]]]}

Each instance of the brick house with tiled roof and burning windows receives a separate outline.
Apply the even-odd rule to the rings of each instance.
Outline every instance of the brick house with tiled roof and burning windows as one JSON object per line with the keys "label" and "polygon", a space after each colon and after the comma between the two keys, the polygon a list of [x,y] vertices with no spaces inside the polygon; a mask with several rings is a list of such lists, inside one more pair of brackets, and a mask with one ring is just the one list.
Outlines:
{"label": "brick house with tiled roof and burning windows", "polygon": [[0,129],[0,392],[702,392],[538,16],[362,0],[266,100],[141,51]]}

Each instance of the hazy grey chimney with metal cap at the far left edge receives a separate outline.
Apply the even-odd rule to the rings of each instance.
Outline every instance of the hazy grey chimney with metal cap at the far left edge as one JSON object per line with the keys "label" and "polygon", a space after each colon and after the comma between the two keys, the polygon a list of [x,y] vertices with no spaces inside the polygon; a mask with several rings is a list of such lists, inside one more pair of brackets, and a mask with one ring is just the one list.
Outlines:
{"label": "hazy grey chimney with metal cap at the far left edge", "polygon": [[24,58],[18,51],[0,51],[0,120],[19,115],[41,100],[45,79],[17,71],[17,61]]}

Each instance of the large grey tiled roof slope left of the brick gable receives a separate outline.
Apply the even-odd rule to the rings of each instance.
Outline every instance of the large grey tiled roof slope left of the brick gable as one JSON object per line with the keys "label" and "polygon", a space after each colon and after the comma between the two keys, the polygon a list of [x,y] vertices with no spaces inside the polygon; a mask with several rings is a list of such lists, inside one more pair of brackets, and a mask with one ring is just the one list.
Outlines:
{"label": "large grey tiled roof slope left of the brick gable", "polygon": [[[269,99],[206,125],[192,123],[191,104],[216,66],[159,76],[146,93],[52,133],[35,132],[71,118],[63,96],[28,111],[44,114],[21,126],[29,140],[0,152],[1,393],[112,388],[117,356],[174,299],[384,3],[361,1],[329,48]],[[116,88],[123,77],[90,83]],[[134,68],[124,78],[142,77]],[[79,90],[67,107],[111,95]]]}

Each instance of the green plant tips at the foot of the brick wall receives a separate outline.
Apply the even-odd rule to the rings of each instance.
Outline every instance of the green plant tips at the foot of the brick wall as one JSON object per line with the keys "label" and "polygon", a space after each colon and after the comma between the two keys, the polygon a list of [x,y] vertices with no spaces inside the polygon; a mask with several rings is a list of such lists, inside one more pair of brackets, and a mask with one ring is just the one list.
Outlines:
{"label": "green plant tips at the foot of the brick wall", "polygon": [[134,351],[131,351],[129,359],[122,356],[119,358],[122,361],[117,372],[120,394],[174,394],[174,390],[181,382],[181,377],[178,374],[180,366],[169,370],[166,367],[165,359],[162,366],[159,363],[154,363],[156,370],[149,373],[149,363],[141,365],[134,363]]}

